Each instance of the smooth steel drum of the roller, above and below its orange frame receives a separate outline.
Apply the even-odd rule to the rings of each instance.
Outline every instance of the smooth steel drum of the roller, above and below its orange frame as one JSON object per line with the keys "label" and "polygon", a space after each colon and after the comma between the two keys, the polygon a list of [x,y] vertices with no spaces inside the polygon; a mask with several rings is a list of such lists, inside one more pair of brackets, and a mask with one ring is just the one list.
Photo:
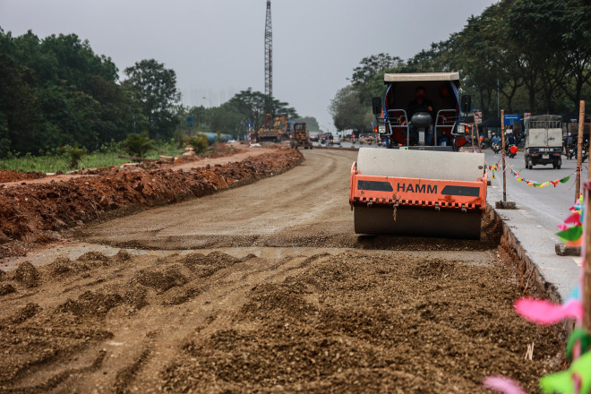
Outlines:
{"label": "smooth steel drum of the roller, above and below its orange frame", "polygon": [[[366,148],[359,150],[356,168],[364,176],[477,182],[484,176],[484,154]],[[481,210],[399,205],[396,219],[391,205],[354,210],[356,234],[480,238]]]}

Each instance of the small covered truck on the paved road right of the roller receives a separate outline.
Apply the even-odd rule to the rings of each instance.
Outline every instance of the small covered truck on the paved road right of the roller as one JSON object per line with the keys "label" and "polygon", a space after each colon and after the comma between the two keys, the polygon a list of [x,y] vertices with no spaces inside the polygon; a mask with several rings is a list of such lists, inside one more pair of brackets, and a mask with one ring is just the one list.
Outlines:
{"label": "small covered truck on the paved road right of the roller", "polygon": [[552,164],[561,168],[562,117],[558,115],[530,116],[525,122],[526,168]]}

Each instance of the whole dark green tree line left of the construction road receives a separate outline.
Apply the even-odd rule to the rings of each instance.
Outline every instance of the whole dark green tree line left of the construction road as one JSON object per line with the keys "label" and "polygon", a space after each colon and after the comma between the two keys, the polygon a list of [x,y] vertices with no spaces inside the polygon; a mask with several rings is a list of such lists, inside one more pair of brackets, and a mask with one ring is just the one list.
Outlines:
{"label": "whole dark green tree line left of the construction road", "polygon": [[[244,135],[265,112],[296,118],[295,108],[247,89],[219,107],[184,107],[176,73],[155,59],[123,71],[75,34],[13,37],[0,28],[0,158],[55,154],[64,146],[99,150],[130,134],[178,139],[179,132]],[[189,124],[187,119],[193,119]]]}

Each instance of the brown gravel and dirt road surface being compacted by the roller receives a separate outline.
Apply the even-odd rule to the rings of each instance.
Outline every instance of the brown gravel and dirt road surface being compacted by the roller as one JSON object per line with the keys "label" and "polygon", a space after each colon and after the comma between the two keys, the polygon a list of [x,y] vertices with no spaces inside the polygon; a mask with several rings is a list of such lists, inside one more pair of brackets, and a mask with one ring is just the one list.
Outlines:
{"label": "brown gravel and dirt road surface being compacted by the roller", "polygon": [[[356,152],[90,223],[0,271],[3,392],[484,392],[561,367],[498,229],[357,237]],[[535,344],[533,360],[525,360]]]}

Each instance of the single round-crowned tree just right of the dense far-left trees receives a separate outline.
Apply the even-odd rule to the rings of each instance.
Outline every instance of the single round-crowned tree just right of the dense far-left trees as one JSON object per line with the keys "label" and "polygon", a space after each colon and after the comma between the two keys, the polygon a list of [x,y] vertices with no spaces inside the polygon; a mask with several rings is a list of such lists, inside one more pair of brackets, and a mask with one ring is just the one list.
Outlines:
{"label": "single round-crowned tree just right of the dense far-left trees", "polygon": [[178,122],[173,107],[180,99],[175,71],[150,59],[127,67],[124,73],[128,77],[124,84],[130,86],[148,120],[150,137],[171,138]]}

